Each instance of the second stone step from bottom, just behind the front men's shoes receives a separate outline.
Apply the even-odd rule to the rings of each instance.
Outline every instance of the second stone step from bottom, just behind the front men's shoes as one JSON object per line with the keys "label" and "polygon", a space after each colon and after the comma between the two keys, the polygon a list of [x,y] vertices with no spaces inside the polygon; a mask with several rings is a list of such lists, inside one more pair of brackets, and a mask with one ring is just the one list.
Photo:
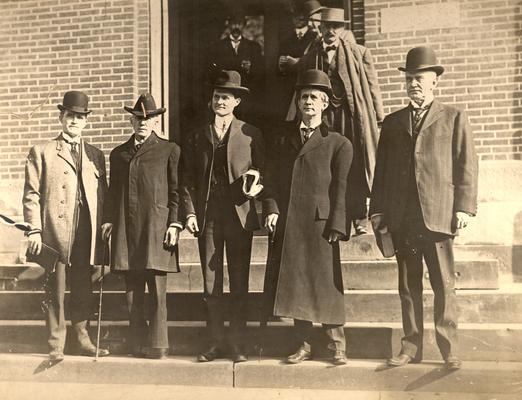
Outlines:
{"label": "second stone step from bottom, just behind the front men's shoes", "polygon": [[[70,330],[70,326],[69,326]],[[102,346],[112,354],[127,354],[128,322],[104,321],[101,328]],[[0,353],[47,352],[46,328],[43,321],[0,321]],[[315,357],[327,357],[326,336],[319,325],[313,330]],[[69,332],[70,333],[70,332]],[[96,338],[96,323],[91,322],[90,334]],[[385,359],[400,348],[403,336],[400,323],[347,323],[345,325],[347,354],[350,359]],[[170,353],[192,356],[207,343],[204,322],[169,322]],[[293,324],[271,322],[266,327],[249,323],[245,334],[245,349],[251,359],[259,356],[284,357],[295,351]],[[68,336],[66,352],[74,353],[73,336]],[[458,355],[466,361],[522,362],[522,324],[461,324]],[[424,358],[440,359],[433,324],[426,324]]]}

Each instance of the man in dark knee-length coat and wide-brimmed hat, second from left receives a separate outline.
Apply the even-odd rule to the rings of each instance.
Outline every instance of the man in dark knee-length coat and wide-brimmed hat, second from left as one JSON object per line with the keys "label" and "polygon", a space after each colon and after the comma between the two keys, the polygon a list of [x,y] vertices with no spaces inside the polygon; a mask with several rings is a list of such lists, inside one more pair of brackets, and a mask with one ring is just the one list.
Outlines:
{"label": "man in dark knee-length coat and wide-brimmed hat, second from left", "polygon": [[[134,133],[111,152],[102,229],[106,240],[111,237],[112,271],[125,276],[130,351],[136,357],[161,359],[169,348],[167,274],[179,272],[180,149],[158,136],[165,108],[158,108],[151,94],[140,95],[125,111],[131,114]],[[149,318],[144,315],[145,286],[152,299]]]}

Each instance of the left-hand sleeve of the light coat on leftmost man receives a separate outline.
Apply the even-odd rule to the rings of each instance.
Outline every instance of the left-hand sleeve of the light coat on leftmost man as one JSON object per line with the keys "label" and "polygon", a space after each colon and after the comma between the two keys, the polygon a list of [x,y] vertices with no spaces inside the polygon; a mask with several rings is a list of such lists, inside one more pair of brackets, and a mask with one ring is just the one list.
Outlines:
{"label": "left-hand sleeve of the light coat on leftmost man", "polygon": [[42,229],[40,209],[40,182],[42,176],[42,156],[36,146],[29,151],[25,162],[24,221],[31,229]]}

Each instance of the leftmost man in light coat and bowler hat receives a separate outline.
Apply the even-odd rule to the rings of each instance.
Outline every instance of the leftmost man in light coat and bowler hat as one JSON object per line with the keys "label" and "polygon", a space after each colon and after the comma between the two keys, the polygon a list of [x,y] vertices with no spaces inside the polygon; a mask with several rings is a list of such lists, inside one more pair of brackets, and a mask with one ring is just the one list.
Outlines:
{"label": "leftmost man in light coat and bowler hat", "polygon": [[[101,150],[82,139],[87,125],[88,97],[66,92],[58,105],[62,132],[34,146],[25,165],[24,219],[29,223],[29,252],[37,255],[42,243],[59,253],[53,270],[46,271],[45,313],[49,357],[63,359],[65,345],[64,296],[66,277],[71,296],[69,314],[78,351],[94,356],[96,348],[87,332],[92,315],[92,265],[103,257],[101,214],[107,180]],[[99,355],[109,352],[101,349]]]}

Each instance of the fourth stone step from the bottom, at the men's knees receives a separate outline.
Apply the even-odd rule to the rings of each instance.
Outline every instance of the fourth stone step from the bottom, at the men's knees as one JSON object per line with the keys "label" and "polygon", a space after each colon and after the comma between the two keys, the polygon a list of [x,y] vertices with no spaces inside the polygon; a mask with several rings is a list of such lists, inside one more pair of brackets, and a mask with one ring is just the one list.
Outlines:
{"label": "fourth stone step from the bottom, at the men's knees", "polygon": [[[397,264],[394,260],[360,260],[344,261],[343,284],[346,289],[395,289],[397,287]],[[499,262],[493,259],[463,259],[455,265],[456,287],[458,289],[498,289]],[[250,268],[251,291],[262,291],[266,263],[253,263]],[[93,274],[95,282],[101,274],[96,269]],[[429,274],[425,267],[425,287],[430,286]],[[36,264],[4,264],[0,265],[0,290],[39,290],[43,286],[44,270]],[[225,285],[228,287],[228,274],[225,268]],[[105,279],[105,289],[125,290],[122,275],[109,274]],[[199,263],[183,263],[181,273],[169,274],[167,290],[201,291],[203,275]]]}

